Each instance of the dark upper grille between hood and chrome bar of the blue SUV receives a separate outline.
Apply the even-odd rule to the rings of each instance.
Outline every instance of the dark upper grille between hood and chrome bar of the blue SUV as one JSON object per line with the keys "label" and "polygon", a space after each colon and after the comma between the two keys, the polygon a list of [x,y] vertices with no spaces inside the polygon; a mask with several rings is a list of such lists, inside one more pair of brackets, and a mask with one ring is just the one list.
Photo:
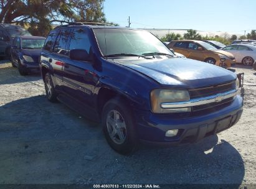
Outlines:
{"label": "dark upper grille between hood and chrome bar of the blue SUV", "polygon": [[190,99],[195,99],[211,96],[214,94],[224,93],[231,90],[235,90],[235,82],[189,90],[189,96]]}

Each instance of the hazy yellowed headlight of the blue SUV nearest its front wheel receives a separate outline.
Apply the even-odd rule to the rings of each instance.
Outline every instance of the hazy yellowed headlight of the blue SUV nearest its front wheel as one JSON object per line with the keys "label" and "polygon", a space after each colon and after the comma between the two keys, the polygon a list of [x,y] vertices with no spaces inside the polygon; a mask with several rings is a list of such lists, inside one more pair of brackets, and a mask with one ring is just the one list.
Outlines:
{"label": "hazy yellowed headlight of the blue SUV nearest its front wheel", "polygon": [[189,101],[190,97],[187,90],[156,89],[151,91],[150,97],[153,113],[186,113],[191,111],[191,108],[161,108],[161,103]]}

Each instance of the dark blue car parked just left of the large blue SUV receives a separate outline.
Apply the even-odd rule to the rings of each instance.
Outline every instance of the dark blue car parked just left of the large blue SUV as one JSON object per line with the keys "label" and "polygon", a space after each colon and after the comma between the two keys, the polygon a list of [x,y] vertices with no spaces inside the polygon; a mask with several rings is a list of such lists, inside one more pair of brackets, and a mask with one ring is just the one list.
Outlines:
{"label": "dark blue car parked just left of the large blue SUV", "polygon": [[11,47],[12,67],[17,67],[21,75],[39,71],[39,55],[44,46],[45,37],[15,37]]}

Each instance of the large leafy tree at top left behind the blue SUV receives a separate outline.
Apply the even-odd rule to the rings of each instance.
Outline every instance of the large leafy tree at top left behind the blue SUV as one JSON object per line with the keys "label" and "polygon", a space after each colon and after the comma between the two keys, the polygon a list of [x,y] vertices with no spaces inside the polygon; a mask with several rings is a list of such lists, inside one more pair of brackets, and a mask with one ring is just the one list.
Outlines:
{"label": "large leafy tree at top left behind the blue SUV", "polygon": [[[47,35],[52,22],[107,22],[104,0],[1,0],[0,22],[28,27],[34,35]],[[115,24],[115,23],[113,23]]]}

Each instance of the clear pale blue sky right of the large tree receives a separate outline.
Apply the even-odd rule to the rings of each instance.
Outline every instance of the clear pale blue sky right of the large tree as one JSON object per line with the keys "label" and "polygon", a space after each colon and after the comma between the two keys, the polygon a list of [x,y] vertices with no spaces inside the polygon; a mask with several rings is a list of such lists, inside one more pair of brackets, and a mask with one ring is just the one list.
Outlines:
{"label": "clear pale blue sky right of the large tree", "polygon": [[107,21],[122,27],[244,34],[256,29],[256,0],[105,0]]}

